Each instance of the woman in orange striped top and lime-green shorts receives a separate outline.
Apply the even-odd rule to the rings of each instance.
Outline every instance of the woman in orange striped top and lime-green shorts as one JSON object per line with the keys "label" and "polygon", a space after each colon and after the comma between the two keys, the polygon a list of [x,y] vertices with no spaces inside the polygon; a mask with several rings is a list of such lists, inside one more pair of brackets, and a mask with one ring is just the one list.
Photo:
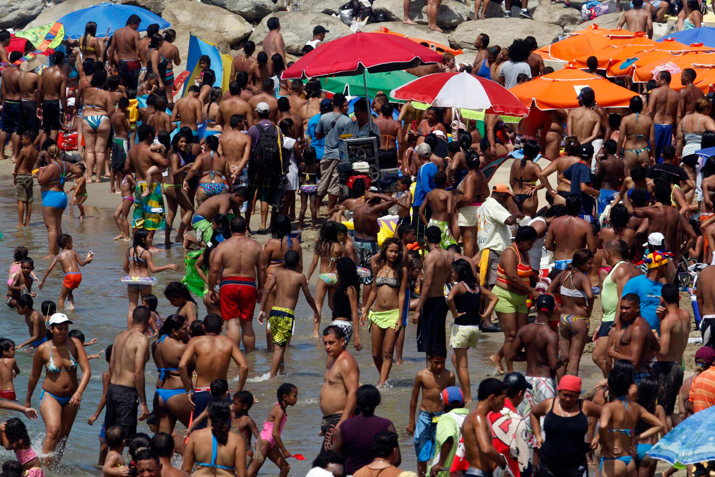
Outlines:
{"label": "woman in orange striped top and lime-green shorts", "polygon": [[[496,285],[492,293],[499,297],[494,311],[504,332],[504,345],[489,359],[496,365],[500,374],[504,373],[501,360],[509,355],[516,332],[526,325],[528,318],[526,298],[528,295],[534,297],[541,295],[531,287],[534,271],[529,264],[528,251],[533,247],[535,240],[536,230],[533,227],[519,227],[514,242],[506,247],[499,257]],[[508,373],[514,370],[511,360],[506,359],[506,368]]]}

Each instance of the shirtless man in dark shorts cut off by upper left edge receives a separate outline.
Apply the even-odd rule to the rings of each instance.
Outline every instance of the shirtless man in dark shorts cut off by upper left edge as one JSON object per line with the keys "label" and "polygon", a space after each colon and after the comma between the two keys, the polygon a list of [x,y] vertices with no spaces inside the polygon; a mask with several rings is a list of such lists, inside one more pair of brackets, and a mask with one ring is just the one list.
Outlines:
{"label": "shirtless man in dark shorts cut off by upper left edge", "polygon": [[[6,30],[4,30],[6,31]],[[8,40],[9,42],[9,40]],[[22,57],[19,51],[13,51],[10,54],[9,62],[13,64]],[[0,81],[0,106],[2,107],[2,131],[0,131],[0,159],[7,159],[5,155],[5,144],[7,135],[10,134],[12,142],[12,162],[17,162],[17,157],[20,153],[20,134],[23,131],[18,130],[20,122],[20,67],[13,64],[7,67],[2,72],[2,81]]]}

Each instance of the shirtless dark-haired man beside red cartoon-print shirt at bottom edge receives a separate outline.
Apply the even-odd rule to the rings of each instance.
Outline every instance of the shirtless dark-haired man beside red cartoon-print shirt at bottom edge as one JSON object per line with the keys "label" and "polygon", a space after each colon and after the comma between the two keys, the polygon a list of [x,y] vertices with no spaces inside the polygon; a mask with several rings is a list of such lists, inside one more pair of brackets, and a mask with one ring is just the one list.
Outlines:
{"label": "shirtless dark-haired man beside red cartoon-print shirt at bottom edge", "polygon": [[499,413],[504,407],[506,385],[495,378],[486,378],[479,383],[477,407],[462,424],[462,437],[469,461],[466,475],[491,476],[494,466],[506,468],[506,457],[493,446],[488,413]]}

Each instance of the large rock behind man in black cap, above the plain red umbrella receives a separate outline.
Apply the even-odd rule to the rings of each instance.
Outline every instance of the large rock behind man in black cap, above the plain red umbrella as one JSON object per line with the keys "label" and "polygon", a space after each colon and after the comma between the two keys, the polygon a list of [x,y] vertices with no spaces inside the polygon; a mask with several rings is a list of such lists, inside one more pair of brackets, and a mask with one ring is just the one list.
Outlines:
{"label": "large rock behind man in black cap, above the plain red umbrella", "polygon": [[[301,54],[305,42],[312,39],[312,29],[314,26],[322,25],[325,29],[330,30],[325,35],[325,41],[334,40],[341,36],[349,35],[352,32],[342,21],[326,14],[312,14],[308,11],[277,11],[275,15],[280,20],[280,34],[285,41],[285,51],[292,54]],[[262,45],[263,39],[268,33],[266,23],[270,17],[266,16],[261,20],[253,33],[251,41],[255,44]]]}

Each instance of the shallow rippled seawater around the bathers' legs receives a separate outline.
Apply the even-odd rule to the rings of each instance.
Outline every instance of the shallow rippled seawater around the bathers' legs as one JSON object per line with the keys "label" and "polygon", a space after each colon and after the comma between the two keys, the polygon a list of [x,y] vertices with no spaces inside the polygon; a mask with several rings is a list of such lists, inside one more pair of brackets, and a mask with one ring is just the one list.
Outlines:
{"label": "shallow rippled seawater around the bathers' legs", "polygon": [[[16,228],[16,202],[14,200],[14,187],[8,176],[0,180],[0,231],[4,234],[4,240],[0,241],[2,254],[0,256],[1,270],[9,267],[12,261],[12,253],[17,245],[24,245],[30,251],[30,257],[35,260],[35,272],[39,277],[49,266],[50,260],[39,260],[47,254],[47,235],[42,220],[41,202],[39,200],[39,187],[35,187],[34,213],[32,215],[31,227],[24,230]],[[107,185],[108,190],[109,185]],[[96,192],[95,192],[96,193]],[[106,192],[108,193],[108,192]],[[119,196],[117,195],[117,201]],[[63,219],[63,231],[69,233],[74,238],[74,248],[80,255],[86,255],[89,250],[94,252],[94,261],[82,268],[82,285],[75,293],[77,304],[76,313],[68,313],[74,325],[71,328],[81,330],[87,340],[97,338],[99,343],[87,348],[88,353],[99,353],[107,345],[112,344],[116,335],[125,328],[127,323],[127,288],[119,282],[119,278],[124,275],[122,261],[124,252],[129,246],[129,242],[113,242],[112,237],[117,235],[117,227],[112,218],[113,210],[107,208],[86,207],[87,218],[82,222],[79,219],[70,219],[65,213]],[[265,240],[267,236],[260,236]],[[163,242],[163,233],[157,232],[155,243]],[[312,255],[306,253],[305,272],[307,272]],[[162,272],[157,274],[159,285],[154,287],[154,294],[159,297],[159,312],[166,316],[174,313],[168,301],[164,298],[162,291],[168,282],[180,280],[184,270],[183,255],[181,247],[174,247],[167,252],[154,254],[154,262],[157,265],[165,263],[179,264],[180,273]],[[315,274],[317,275],[317,273]],[[311,290],[314,290],[315,279],[311,280]],[[4,275],[2,275],[4,276]],[[39,303],[43,300],[57,300],[59,287],[61,285],[62,273],[58,266],[52,272],[44,290],[41,290],[36,297],[36,309],[39,310]],[[201,300],[199,303],[200,313],[205,313],[205,308]],[[2,328],[0,334],[11,338],[15,343],[21,343],[28,336],[24,320],[17,315],[14,310],[6,307],[1,308],[0,320]],[[310,338],[312,333],[312,310],[301,297],[296,311],[296,330],[292,338],[292,345],[286,353],[286,374],[275,380],[268,380],[270,363],[272,356],[265,348],[265,328],[255,324],[257,334],[257,351],[247,355],[247,362],[250,368],[246,389],[250,390],[259,402],[253,405],[250,415],[262,428],[263,422],[268,415],[268,410],[276,402],[275,391],[284,382],[297,385],[298,402],[293,408],[289,408],[288,420],[283,432],[283,442],[290,453],[302,453],[306,461],[299,462],[290,459],[291,474],[295,476],[305,475],[310,468],[312,459],[315,458],[322,438],[318,436],[320,431],[320,420],[322,413],[318,406],[318,395],[322,387],[322,377],[325,373],[325,352],[322,350],[320,341]],[[330,314],[327,303],[325,305],[324,317]],[[322,325],[327,325],[330,320],[323,318]],[[448,318],[448,326],[451,319]],[[405,343],[405,364],[393,366],[390,373],[390,381],[382,390],[382,403],[378,407],[377,414],[389,418],[395,423],[400,435],[400,448],[403,455],[403,463],[400,466],[405,470],[416,471],[415,451],[413,438],[405,432],[408,424],[408,412],[410,405],[410,393],[412,390],[415,373],[424,368],[425,358],[422,353],[417,353],[415,342],[415,326],[411,320],[407,329]],[[449,336],[449,330],[447,330]],[[360,330],[363,339],[363,348],[360,352],[355,352],[352,343],[350,352],[355,355],[360,364],[360,382],[377,383],[378,373],[372,366],[372,352],[370,345],[370,335],[365,328]],[[501,346],[503,335],[482,335],[480,345],[477,349],[469,352],[470,377],[472,381],[472,392],[476,394],[476,387],[479,381],[488,375],[495,374],[495,368],[488,360],[488,356]],[[24,402],[27,389],[27,379],[31,370],[33,350],[21,350],[16,353],[16,359],[21,369],[21,374],[16,377],[15,389],[20,402]],[[451,350],[449,351],[451,358]],[[102,395],[102,373],[108,369],[104,356],[99,360],[90,361],[92,366],[92,379],[89,381],[87,390],[82,398],[82,407],[74,423],[66,452],[61,466],[56,471],[46,471],[49,476],[99,476],[101,471],[97,468],[97,454],[99,441],[97,435],[101,428],[104,413],[94,426],[87,424],[87,418],[94,413],[99,399]],[[453,370],[453,366],[448,359],[447,366]],[[525,369],[522,363],[517,364],[517,369]],[[582,375],[588,376],[595,368],[591,363],[590,356],[584,357],[582,364]],[[43,377],[44,378],[44,375]],[[38,408],[39,393],[41,390],[42,378],[39,381],[31,404]],[[153,362],[147,363],[147,400],[151,403],[153,397],[153,386],[157,378],[157,370]],[[237,369],[232,367],[229,371],[230,390],[236,390]],[[151,404],[149,405],[151,407]],[[470,405],[472,407],[472,405]],[[16,416],[16,413],[0,411],[0,419],[5,420]],[[37,421],[29,421],[21,416],[28,426],[33,447],[36,451],[41,450],[44,439],[44,424],[39,418]],[[149,433],[149,428],[144,423],[139,423],[140,432]],[[183,432],[182,426],[177,426],[177,431]],[[14,458],[14,454],[0,448],[0,460]],[[277,468],[273,463],[267,461],[261,472],[263,475],[277,474]]]}

